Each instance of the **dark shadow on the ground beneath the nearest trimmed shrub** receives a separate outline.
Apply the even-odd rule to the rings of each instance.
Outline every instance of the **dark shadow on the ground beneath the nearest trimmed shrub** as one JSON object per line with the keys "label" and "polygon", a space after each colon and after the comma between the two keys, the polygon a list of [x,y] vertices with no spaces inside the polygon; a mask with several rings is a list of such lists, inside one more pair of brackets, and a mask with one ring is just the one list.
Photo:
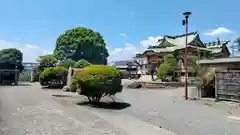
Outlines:
{"label": "dark shadow on the ground beneath the nearest trimmed shrub", "polygon": [[101,109],[111,109],[111,110],[122,110],[128,107],[131,107],[131,104],[125,102],[99,102],[99,103],[91,103],[89,101],[78,102],[77,105],[81,106],[91,106],[94,108]]}

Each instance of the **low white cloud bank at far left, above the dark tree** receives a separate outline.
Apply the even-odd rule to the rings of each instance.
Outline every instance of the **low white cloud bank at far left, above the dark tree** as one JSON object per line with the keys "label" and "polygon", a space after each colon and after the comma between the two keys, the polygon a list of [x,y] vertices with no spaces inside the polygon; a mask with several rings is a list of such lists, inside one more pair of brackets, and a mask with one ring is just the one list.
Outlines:
{"label": "low white cloud bank at far left, above the dark tree", "polygon": [[38,45],[22,44],[19,42],[8,42],[6,40],[0,40],[0,50],[6,48],[17,48],[23,53],[24,62],[36,62],[38,56],[51,54],[49,50],[42,49]]}

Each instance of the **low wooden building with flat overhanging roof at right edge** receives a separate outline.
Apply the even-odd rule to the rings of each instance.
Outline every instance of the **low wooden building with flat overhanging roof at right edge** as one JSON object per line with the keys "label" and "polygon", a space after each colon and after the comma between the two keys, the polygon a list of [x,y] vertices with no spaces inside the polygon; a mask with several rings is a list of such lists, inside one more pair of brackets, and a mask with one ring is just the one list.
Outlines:
{"label": "low wooden building with flat overhanging roof at right edge", "polygon": [[240,57],[200,60],[199,63],[203,70],[216,72],[214,91],[217,100],[240,102]]}

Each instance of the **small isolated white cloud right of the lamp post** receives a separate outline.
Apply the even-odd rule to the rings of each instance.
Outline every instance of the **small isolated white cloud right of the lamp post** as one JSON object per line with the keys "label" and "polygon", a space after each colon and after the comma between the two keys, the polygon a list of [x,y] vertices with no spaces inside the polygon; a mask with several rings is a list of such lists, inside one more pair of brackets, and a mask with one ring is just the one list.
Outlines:
{"label": "small isolated white cloud right of the lamp post", "polygon": [[231,30],[224,28],[224,27],[218,27],[216,29],[208,30],[207,32],[204,33],[204,35],[207,36],[218,36],[221,34],[230,34],[232,33]]}

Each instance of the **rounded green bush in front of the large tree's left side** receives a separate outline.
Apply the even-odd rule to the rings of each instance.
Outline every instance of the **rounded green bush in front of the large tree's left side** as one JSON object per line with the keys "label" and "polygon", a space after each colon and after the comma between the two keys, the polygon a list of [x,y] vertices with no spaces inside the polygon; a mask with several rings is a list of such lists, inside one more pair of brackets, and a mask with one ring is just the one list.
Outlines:
{"label": "rounded green bush in front of the large tree's left side", "polygon": [[48,67],[39,76],[41,85],[49,85],[49,82],[57,81],[66,84],[67,70],[64,67]]}

